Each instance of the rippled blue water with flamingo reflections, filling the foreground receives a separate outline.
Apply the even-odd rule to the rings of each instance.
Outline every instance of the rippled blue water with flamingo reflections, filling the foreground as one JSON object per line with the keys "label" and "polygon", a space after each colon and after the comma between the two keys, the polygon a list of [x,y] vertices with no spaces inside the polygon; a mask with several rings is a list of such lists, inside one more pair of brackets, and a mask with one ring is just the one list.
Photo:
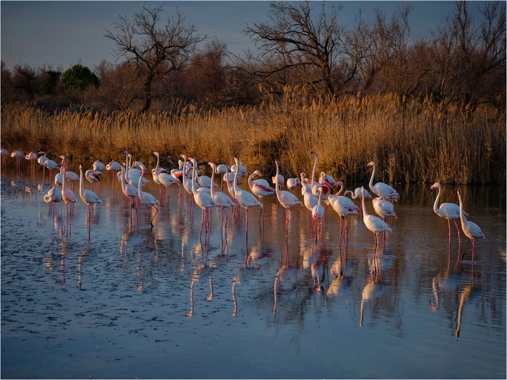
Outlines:
{"label": "rippled blue water with flamingo reflections, filling the foreground", "polygon": [[[171,187],[152,229],[111,174],[91,219],[76,186],[70,224],[65,205],[53,223],[48,173],[43,184],[40,167],[35,180],[12,168],[1,185],[2,378],[505,378],[504,188],[461,186],[487,237],[472,265],[459,260],[472,243],[461,233],[458,252],[451,222],[449,244],[429,185],[395,185],[398,219],[375,259],[362,219],[349,217],[345,245],[331,207],[318,244],[302,206],[285,239],[275,196],[264,221],[250,210],[247,240],[241,209],[228,212],[227,242],[217,211],[201,241],[201,210],[192,218]],[[441,202],[456,190],[443,185]]]}

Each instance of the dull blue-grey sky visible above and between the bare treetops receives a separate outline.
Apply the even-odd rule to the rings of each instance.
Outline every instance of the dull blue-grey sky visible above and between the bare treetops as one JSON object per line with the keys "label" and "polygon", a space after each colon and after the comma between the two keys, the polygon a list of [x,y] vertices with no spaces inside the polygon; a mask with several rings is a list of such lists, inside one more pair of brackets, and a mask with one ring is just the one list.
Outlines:
{"label": "dull blue-grey sky visible above and between the bare treetops", "polygon": [[[319,2],[312,2],[315,8]],[[342,1],[345,23],[358,8],[372,15],[378,7],[390,15],[399,1]],[[0,1],[0,58],[7,68],[29,63],[63,70],[80,63],[94,71],[102,60],[115,62],[114,43],[105,30],[114,30],[119,15],[130,17],[145,2],[138,1]],[[268,21],[268,1],[147,1],[148,7],[164,5],[168,13],[182,11],[200,33],[217,36],[229,50],[240,54],[255,49],[243,35],[247,24]],[[453,1],[415,1],[412,34],[428,36],[454,8]],[[478,3],[472,2],[470,10]]]}

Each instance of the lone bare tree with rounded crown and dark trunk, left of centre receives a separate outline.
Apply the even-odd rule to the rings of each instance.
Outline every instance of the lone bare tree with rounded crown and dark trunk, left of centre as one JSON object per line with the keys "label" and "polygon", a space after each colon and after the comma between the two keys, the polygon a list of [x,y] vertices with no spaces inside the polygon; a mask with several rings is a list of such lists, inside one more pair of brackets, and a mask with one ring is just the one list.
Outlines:
{"label": "lone bare tree with rounded crown and dark trunk, left of centre", "polygon": [[142,76],[141,112],[148,111],[152,104],[154,79],[187,67],[204,39],[194,24],[187,23],[183,13],[176,12],[165,19],[164,15],[164,6],[149,8],[145,4],[133,13],[132,19],[120,15],[115,32],[106,30],[104,34],[116,43],[116,58],[126,58],[125,64]]}

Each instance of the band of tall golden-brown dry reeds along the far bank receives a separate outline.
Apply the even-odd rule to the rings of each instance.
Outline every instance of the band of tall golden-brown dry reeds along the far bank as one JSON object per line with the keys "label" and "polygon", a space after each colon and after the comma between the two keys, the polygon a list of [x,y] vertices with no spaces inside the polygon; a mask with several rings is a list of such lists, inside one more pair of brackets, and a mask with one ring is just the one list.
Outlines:
{"label": "band of tall golden-brown dry reeds along the far bank", "polygon": [[400,107],[391,96],[308,99],[305,89],[287,89],[277,103],[220,110],[182,104],[157,115],[49,115],[27,105],[3,105],[2,146],[90,161],[121,160],[128,150],[149,165],[155,150],[173,161],[184,153],[231,164],[237,156],[248,171],[265,175],[279,158],[283,174],[291,176],[311,168],[314,150],[319,170],[348,181],[367,179],[370,161],[379,164],[379,181],[506,180],[506,122],[497,111],[467,116],[431,101]]}

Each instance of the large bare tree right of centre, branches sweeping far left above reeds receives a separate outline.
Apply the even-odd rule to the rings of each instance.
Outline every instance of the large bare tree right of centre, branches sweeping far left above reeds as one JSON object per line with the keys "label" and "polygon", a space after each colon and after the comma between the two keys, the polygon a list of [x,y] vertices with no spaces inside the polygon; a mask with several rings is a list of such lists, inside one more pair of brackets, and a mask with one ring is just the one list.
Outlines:
{"label": "large bare tree right of centre, branches sweeping far left above reeds", "polygon": [[321,3],[317,16],[309,2],[270,4],[270,22],[255,23],[244,30],[259,47],[236,63],[253,82],[279,86],[307,83],[333,94],[333,67],[340,54],[338,15],[341,6]]}

